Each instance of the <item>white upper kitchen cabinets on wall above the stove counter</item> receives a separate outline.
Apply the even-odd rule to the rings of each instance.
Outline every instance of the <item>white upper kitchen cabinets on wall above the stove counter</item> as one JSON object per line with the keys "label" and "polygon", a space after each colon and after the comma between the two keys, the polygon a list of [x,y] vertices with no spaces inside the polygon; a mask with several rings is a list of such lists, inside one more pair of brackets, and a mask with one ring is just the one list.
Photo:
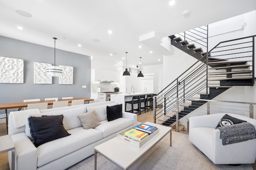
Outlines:
{"label": "white upper kitchen cabinets on wall above the stove counter", "polygon": [[92,82],[119,82],[119,74],[115,71],[110,70],[91,70],[91,81]]}

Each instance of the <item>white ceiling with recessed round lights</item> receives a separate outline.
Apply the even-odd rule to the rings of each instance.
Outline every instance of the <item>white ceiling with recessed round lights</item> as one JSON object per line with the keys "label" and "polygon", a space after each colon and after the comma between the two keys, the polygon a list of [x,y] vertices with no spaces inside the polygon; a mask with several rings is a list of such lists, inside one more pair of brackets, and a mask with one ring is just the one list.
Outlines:
{"label": "white ceiling with recessed round lights", "polygon": [[[169,2],[0,0],[0,35],[48,47],[54,47],[52,37],[57,37],[57,49],[112,61],[122,61],[127,51],[128,63],[138,64],[142,57],[142,65],[151,65],[161,64],[164,53],[144,45],[140,36],[155,31],[158,37],[166,37],[256,10],[256,0],[176,0],[174,6]],[[32,17],[20,16],[15,10],[29,12]],[[184,17],[184,10],[190,15]]]}

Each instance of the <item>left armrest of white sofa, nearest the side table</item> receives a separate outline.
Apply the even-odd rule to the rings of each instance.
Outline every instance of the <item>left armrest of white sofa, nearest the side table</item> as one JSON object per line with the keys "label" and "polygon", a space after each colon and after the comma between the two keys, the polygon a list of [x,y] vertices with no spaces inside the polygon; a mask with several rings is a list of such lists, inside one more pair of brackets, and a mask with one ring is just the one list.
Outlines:
{"label": "left armrest of white sofa, nearest the side table", "polygon": [[[37,168],[37,149],[25,133],[12,135],[15,146],[15,170],[36,170]],[[10,169],[12,153],[8,152]]]}

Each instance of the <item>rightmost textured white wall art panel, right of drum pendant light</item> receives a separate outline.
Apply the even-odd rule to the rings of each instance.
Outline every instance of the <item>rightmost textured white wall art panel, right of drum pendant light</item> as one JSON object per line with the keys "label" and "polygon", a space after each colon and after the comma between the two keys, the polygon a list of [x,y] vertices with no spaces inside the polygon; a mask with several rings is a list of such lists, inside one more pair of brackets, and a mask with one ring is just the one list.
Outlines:
{"label": "rightmost textured white wall art panel, right of drum pendant light", "polygon": [[73,67],[61,66],[62,75],[59,76],[59,84],[73,84]]}

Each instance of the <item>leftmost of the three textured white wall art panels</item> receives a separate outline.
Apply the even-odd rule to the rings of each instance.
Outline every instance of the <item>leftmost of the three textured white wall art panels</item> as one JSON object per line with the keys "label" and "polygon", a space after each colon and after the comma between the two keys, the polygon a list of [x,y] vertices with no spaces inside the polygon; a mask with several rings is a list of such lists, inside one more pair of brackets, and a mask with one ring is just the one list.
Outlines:
{"label": "leftmost of the three textured white wall art panels", "polygon": [[24,83],[24,61],[0,57],[0,83]]}

